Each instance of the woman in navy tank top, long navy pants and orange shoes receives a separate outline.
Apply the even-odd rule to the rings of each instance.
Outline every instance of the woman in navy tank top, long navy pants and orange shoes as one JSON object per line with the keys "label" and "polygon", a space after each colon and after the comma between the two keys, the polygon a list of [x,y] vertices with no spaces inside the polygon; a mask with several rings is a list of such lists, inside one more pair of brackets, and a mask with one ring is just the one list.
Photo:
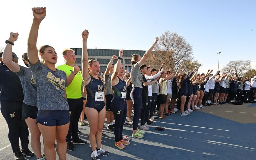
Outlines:
{"label": "woman in navy tank top, long navy pants and orange shoes", "polygon": [[114,67],[114,72],[111,75],[111,86],[114,94],[111,108],[115,118],[115,146],[119,149],[124,149],[124,145],[129,145],[130,142],[123,140],[123,124],[126,118],[127,105],[126,105],[126,83],[123,80],[124,67],[121,64],[123,50],[119,51],[117,64]]}

